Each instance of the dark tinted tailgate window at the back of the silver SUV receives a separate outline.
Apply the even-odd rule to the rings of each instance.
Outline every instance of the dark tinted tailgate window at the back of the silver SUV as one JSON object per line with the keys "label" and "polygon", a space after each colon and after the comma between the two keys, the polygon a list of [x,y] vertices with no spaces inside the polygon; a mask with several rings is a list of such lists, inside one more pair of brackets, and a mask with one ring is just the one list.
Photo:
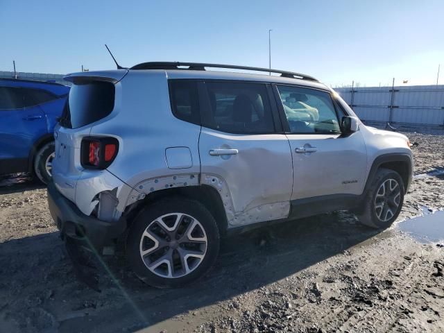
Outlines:
{"label": "dark tinted tailgate window at the back of the silver SUV", "polygon": [[114,85],[109,82],[93,81],[72,85],[60,125],[79,128],[105,118],[114,108],[114,94]]}

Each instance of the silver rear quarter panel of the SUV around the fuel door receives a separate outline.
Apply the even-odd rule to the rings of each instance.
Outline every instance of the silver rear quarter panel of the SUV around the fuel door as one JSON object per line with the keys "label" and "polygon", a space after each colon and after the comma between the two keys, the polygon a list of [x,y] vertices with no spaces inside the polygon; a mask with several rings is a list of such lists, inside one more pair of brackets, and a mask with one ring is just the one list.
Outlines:
{"label": "silver rear quarter panel of the SUV around the fuel door", "polygon": [[[144,89],[143,94],[141,89]],[[160,176],[200,173],[200,126],[174,117],[165,71],[150,70],[150,75],[146,75],[145,71],[130,70],[116,85],[115,108],[119,111],[114,114],[113,121],[97,123],[91,135],[97,133],[119,139],[119,152],[108,170],[133,187],[135,194],[142,183]],[[186,172],[169,169],[165,152],[171,147],[189,148],[192,165]],[[131,200],[134,198],[128,198],[128,202]],[[125,202],[128,204],[127,200]]]}

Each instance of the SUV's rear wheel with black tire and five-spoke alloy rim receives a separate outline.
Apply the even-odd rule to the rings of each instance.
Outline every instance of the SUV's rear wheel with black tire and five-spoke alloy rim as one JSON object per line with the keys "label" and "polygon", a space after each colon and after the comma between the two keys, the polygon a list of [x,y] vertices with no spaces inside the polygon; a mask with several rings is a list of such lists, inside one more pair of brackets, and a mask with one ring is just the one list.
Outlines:
{"label": "SUV's rear wheel with black tire and five-spoke alloy rim", "polygon": [[[219,254],[219,243],[218,225],[205,206],[186,198],[165,198],[135,217],[126,255],[146,284],[181,287],[210,269]],[[146,252],[143,259],[142,251]]]}

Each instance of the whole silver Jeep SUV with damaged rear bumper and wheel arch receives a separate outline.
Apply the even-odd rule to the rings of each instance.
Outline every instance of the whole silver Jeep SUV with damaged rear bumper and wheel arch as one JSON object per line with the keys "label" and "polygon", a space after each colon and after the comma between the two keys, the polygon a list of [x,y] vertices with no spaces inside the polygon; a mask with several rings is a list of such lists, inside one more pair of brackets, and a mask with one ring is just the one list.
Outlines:
{"label": "whole silver Jeep SUV with damaged rear bumper and wheel arch", "polygon": [[139,278],[178,287],[235,230],[336,210],[373,228],[395,221],[407,137],[364,126],[311,76],[215,67],[270,71],[146,62],[65,78],[48,187],[63,239],[101,253],[124,239]]}

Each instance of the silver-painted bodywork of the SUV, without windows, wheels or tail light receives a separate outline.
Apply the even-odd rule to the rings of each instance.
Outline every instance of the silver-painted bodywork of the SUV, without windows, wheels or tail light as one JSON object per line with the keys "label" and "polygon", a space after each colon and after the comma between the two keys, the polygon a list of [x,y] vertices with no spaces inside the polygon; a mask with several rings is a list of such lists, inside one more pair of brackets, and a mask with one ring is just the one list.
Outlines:
{"label": "silver-painted bodywork of the SUV, without windows, wheels or tail light", "polygon": [[[59,191],[87,215],[103,191],[117,189],[118,215],[153,191],[205,184],[221,195],[230,227],[282,219],[289,215],[291,199],[361,194],[378,155],[411,156],[407,137],[367,128],[359,119],[359,130],[349,137],[233,135],[201,128],[173,116],[167,80],[251,80],[332,92],[321,83],[223,71],[119,70],[69,77],[72,80],[76,76],[117,82],[114,109],[107,117],[83,128],[56,126],[53,180]],[[339,96],[336,99],[355,116]],[[119,153],[107,170],[81,167],[80,142],[89,135],[112,136],[119,141]],[[316,150],[296,153],[296,148]]]}

